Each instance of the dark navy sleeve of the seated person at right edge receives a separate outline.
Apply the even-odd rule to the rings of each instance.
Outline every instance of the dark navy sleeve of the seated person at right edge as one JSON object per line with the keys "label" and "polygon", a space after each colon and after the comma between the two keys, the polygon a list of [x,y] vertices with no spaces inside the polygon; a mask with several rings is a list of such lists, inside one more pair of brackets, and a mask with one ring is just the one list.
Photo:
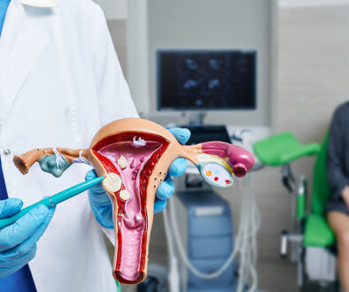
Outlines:
{"label": "dark navy sleeve of the seated person at right edge", "polygon": [[345,186],[349,185],[349,179],[346,177],[344,167],[344,137],[343,123],[341,122],[342,112],[339,107],[332,118],[330,126],[330,140],[328,150],[327,176],[331,188],[331,197],[338,200]]}

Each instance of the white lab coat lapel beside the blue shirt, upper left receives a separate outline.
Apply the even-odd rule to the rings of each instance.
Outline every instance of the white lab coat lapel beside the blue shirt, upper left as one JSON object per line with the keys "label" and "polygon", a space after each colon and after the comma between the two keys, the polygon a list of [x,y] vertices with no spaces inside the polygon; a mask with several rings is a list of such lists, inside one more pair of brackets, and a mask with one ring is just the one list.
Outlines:
{"label": "white lab coat lapel beside the blue shirt, upper left", "polygon": [[22,4],[12,0],[0,37],[0,124],[49,39],[29,23]]}

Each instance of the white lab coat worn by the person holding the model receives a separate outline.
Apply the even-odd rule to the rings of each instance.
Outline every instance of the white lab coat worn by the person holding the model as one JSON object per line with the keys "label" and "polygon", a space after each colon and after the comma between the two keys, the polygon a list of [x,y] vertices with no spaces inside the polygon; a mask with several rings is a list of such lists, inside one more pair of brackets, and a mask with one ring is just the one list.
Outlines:
{"label": "white lab coat worn by the person holding the model", "polygon": [[[12,0],[0,37],[0,154],[10,197],[33,204],[84,181],[89,169],[75,164],[57,179],[35,164],[23,176],[13,154],[86,148],[105,123],[136,115],[97,4],[61,0],[51,9]],[[29,263],[37,290],[115,291],[102,229],[86,193],[59,204]]]}

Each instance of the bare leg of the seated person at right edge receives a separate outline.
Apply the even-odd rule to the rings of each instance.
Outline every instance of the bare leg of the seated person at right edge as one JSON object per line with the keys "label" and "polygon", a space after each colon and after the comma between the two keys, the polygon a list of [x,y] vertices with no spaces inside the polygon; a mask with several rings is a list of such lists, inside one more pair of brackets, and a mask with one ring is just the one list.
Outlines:
{"label": "bare leg of the seated person at right edge", "polygon": [[337,238],[338,271],[342,288],[349,292],[349,216],[340,211],[330,211],[327,218]]}

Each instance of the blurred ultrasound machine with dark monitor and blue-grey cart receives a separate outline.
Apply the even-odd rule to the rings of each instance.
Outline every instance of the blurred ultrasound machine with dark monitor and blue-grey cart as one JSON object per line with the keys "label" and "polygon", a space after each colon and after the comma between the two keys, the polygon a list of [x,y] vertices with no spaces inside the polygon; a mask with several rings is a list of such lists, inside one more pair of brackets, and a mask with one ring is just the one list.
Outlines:
{"label": "blurred ultrasound machine with dark monitor and blue-grey cart", "polygon": [[[221,141],[241,145],[244,132],[232,137],[225,125],[204,124],[205,112],[256,108],[256,60],[256,50],[158,50],[157,110],[192,112],[189,124],[179,125],[190,129],[188,144]],[[237,290],[229,202],[201,181],[195,167],[189,165],[187,173],[177,179],[164,223],[170,291]],[[159,274],[150,265],[150,277],[138,290],[154,290],[151,280],[158,277],[159,281]],[[157,290],[162,290],[159,285]]]}

